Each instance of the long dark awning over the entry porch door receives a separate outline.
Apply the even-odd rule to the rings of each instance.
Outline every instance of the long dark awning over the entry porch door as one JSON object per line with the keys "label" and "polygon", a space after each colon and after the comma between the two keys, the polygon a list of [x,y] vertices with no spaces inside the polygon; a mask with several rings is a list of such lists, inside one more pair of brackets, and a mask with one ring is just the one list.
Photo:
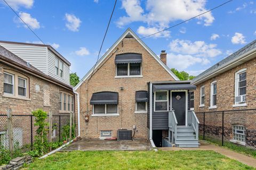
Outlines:
{"label": "long dark awning over the entry porch door", "polygon": [[194,90],[196,86],[192,84],[156,84],[153,85],[153,91],[157,90]]}

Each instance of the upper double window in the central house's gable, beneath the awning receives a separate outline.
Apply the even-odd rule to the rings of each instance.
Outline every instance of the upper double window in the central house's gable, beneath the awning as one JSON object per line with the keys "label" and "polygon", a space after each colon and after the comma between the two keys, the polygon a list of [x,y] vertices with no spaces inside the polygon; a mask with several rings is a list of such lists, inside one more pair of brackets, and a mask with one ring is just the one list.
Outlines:
{"label": "upper double window in the central house's gable, beneath the awning", "polygon": [[117,76],[141,75],[141,63],[116,64]]}

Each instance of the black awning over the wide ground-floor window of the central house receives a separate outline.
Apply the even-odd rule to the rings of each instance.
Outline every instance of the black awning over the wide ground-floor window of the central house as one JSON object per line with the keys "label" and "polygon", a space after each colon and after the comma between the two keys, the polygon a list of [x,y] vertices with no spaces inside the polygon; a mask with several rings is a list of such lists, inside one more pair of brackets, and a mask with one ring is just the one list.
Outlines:
{"label": "black awning over the wide ground-floor window of the central house", "polygon": [[111,91],[96,92],[92,94],[91,105],[118,104],[118,93]]}

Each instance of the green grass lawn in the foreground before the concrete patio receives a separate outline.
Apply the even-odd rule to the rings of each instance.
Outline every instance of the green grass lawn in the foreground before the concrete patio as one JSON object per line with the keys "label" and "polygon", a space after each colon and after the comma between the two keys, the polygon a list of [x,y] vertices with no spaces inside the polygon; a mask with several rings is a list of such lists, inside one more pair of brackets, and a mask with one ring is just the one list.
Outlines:
{"label": "green grass lawn in the foreground before the concrete patio", "polygon": [[72,151],[25,169],[253,169],[214,151]]}

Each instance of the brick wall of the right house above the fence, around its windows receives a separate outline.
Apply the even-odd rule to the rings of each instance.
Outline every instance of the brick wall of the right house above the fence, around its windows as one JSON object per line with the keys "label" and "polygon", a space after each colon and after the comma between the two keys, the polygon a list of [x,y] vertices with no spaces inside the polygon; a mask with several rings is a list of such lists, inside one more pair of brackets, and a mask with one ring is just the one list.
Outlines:
{"label": "brick wall of the right house above the fence, around its windows", "polygon": [[[243,107],[233,107],[235,101],[235,73],[246,68],[246,104]],[[235,68],[217,75],[197,85],[195,90],[195,112],[223,111],[231,109],[249,109],[256,108],[256,58],[238,65]],[[210,107],[210,85],[217,80],[217,108]],[[200,87],[205,86],[205,106],[200,105]]]}

